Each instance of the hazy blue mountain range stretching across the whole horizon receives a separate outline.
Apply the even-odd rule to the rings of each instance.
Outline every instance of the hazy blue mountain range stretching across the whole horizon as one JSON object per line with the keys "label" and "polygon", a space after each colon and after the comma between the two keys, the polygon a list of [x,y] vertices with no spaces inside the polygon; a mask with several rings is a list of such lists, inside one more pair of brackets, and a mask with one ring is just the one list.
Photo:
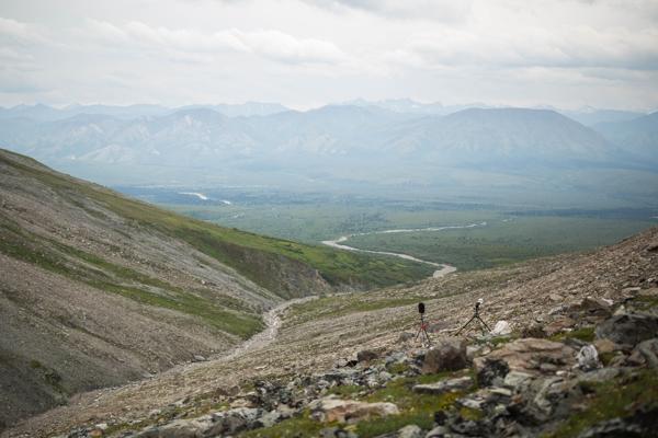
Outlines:
{"label": "hazy blue mountain range stretching across the whole horizon", "polygon": [[589,127],[552,110],[442,112],[407,100],[306,112],[261,103],[19,106],[0,111],[0,146],[106,184],[449,188],[503,199],[553,187],[558,197],[604,193],[622,203],[646,203],[658,187],[658,113],[628,119],[633,113],[588,110]]}

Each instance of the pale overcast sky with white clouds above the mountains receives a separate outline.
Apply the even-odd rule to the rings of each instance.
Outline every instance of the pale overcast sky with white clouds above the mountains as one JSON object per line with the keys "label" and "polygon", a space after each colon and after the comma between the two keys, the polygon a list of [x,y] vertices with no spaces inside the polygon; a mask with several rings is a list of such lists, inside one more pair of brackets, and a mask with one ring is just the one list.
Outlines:
{"label": "pale overcast sky with white clouds above the mountains", "polygon": [[0,105],[658,108],[658,0],[2,0]]}

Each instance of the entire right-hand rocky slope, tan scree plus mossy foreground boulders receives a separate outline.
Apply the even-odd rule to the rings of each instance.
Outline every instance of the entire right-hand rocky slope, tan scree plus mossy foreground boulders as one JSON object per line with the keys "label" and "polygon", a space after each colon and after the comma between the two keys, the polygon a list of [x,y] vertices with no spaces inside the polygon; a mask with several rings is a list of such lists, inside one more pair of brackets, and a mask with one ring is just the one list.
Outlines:
{"label": "entire right-hand rocky slope, tan scree plus mossy foreground boulders", "polygon": [[[271,344],[81,394],[4,436],[649,436],[657,287],[651,229],[590,254],[328,296],[290,308]],[[446,338],[478,298],[511,333]],[[413,341],[420,300],[431,350]],[[628,314],[649,323],[620,326]],[[581,361],[594,339],[599,359]],[[434,360],[454,342],[455,360]]]}

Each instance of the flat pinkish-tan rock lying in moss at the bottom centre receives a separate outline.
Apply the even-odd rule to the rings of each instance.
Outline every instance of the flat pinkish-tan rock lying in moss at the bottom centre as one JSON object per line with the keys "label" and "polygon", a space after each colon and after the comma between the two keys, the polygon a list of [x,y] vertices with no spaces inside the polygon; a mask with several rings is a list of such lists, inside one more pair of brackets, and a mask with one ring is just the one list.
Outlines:
{"label": "flat pinkish-tan rock lying in moss at the bottom centre", "polygon": [[340,400],[334,396],[316,400],[308,407],[313,412],[314,418],[327,423],[356,423],[362,419],[400,413],[393,403],[365,403]]}

